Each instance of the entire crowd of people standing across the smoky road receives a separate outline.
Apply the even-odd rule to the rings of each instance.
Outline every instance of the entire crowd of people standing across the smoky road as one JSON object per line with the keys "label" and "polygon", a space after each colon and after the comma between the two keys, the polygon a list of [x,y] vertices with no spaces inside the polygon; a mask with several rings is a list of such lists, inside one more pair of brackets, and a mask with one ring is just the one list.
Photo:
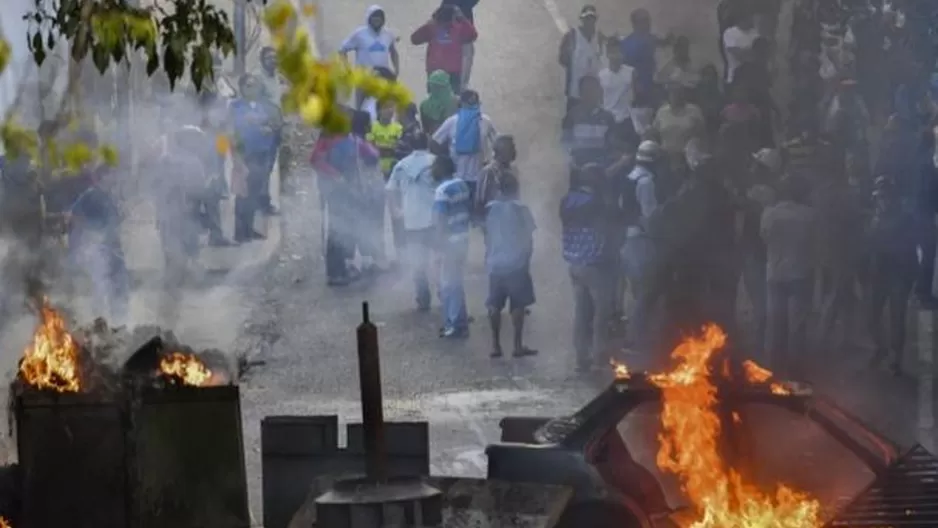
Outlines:
{"label": "entire crowd of people standing across the smoky road", "polygon": [[[430,310],[436,289],[440,336],[462,339],[471,321],[463,285],[469,240],[478,232],[491,354],[503,355],[507,306],[512,355],[530,356],[537,351],[523,337],[535,302],[536,225],[520,199],[514,139],[499,133],[470,88],[477,3],[443,0],[411,34],[413,45],[426,46],[427,96],[419,104],[402,110],[357,94],[350,133],[316,142],[310,161],[326,275],[330,286],[344,287],[404,268],[417,309]],[[619,37],[603,35],[595,6],[583,6],[558,53],[570,163],[559,220],[578,370],[605,370],[623,349],[654,359],[711,321],[748,354],[763,351],[783,375],[797,375],[809,350],[862,345],[861,326],[874,361],[900,369],[913,293],[919,306],[938,307],[938,77],[922,23],[932,15],[920,4],[796,2],[784,111],[780,2],[723,0],[717,65],[701,61],[687,37],[656,34],[644,9],[632,12],[631,31]],[[340,52],[396,80],[399,38],[386,19],[381,7],[370,8]],[[668,59],[659,65],[662,54]],[[166,141],[151,155],[161,174],[179,176],[154,187],[176,280],[204,231],[214,245],[249,242],[262,236],[258,213],[278,214],[267,183],[282,142],[282,86],[272,50],[261,58],[260,75],[241,79],[236,100],[203,97],[200,122],[164,123]],[[876,65],[888,66],[888,75]],[[235,138],[230,186],[219,131]],[[93,247],[108,255],[97,268],[107,280],[96,283],[107,285],[98,297],[111,299],[115,313],[124,311],[127,281],[106,179],[89,176],[65,209],[75,240],[98,240]],[[218,217],[229,194],[234,241]]]}

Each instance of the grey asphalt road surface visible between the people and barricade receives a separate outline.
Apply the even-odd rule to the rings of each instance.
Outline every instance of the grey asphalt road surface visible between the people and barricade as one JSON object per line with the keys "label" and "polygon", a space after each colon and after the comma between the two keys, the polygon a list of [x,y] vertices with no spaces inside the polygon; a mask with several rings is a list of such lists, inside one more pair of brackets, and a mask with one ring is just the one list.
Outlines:
{"label": "grey asphalt road surface visible between the people and barricade", "polygon": [[[321,4],[326,17],[322,40],[334,49],[363,22],[369,2],[322,0]],[[715,0],[604,0],[597,7],[603,31],[623,35],[629,31],[629,11],[648,7],[657,31],[689,35],[696,56],[713,61],[717,56],[715,4]],[[388,25],[402,36],[402,80],[418,97],[425,83],[424,49],[411,46],[409,35],[436,5],[436,0],[408,0],[404,5],[387,6]],[[295,139],[300,146],[296,157],[301,161],[294,177],[302,182],[302,190],[284,200],[283,250],[263,282],[255,285],[263,293],[247,324],[252,346],[263,349],[260,357],[266,361],[242,385],[256,519],[261,513],[259,423],[264,416],[338,414],[344,423],[360,419],[355,326],[362,301],[371,303],[380,331],[386,417],[430,422],[434,473],[484,475],[482,450],[498,439],[500,418],[570,412],[604,383],[572,375],[570,284],[560,256],[556,220],[558,199],[567,182],[559,148],[564,101],[557,46],[560,29],[576,21],[579,8],[576,2],[486,0],[476,13],[480,39],[472,85],[481,93],[483,111],[499,131],[515,136],[523,198],[539,224],[532,269],[538,303],[527,325],[528,344],[541,352],[536,358],[488,357],[487,286],[478,235],[467,278],[469,310],[476,322],[465,342],[443,342],[436,337],[439,316],[415,311],[406,276],[384,276],[371,285],[349,289],[327,288],[318,198],[304,161],[309,152],[308,133]],[[510,327],[505,329],[503,339],[509,331]],[[906,401],[914,401],[911,397]]]}

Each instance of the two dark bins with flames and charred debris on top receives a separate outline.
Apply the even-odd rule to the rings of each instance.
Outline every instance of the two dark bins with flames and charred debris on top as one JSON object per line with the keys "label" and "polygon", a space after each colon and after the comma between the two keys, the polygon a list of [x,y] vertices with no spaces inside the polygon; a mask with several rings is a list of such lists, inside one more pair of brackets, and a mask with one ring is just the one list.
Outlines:
{"label": "two dark bins with flames and charred debris on top", "polygon": [[72,333],[47,301],[39,318],[11,385],[12,524],[249,525],[240,396],[223,356],[158,332],[120,363],[116,349],[147,329],[98,321]]}

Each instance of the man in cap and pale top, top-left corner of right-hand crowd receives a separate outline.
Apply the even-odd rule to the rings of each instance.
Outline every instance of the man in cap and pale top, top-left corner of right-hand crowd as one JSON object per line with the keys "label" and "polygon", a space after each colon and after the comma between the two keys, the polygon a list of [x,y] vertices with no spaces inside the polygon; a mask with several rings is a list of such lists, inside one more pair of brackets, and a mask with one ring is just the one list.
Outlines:
{"label": "man in cap and pale top, top-left corner of right-hand crowd", "polygon": [[580,10],[580,25],[568,31],[560,41],[560,65],[566,70],[567,109],[564,125],[580,99],[581,80],[596,77],[602,68],[606,37],[596,27],[596,7],[585,5]]}

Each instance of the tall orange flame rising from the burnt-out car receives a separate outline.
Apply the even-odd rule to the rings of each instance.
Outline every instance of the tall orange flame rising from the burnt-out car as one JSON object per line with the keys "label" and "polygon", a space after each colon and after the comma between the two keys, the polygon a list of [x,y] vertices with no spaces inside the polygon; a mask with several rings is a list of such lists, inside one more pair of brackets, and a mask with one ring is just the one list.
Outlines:
{"label": "tall orange flame rising from the burnt-out car", "polygon": [[[774,496],[764,494],[738,471],[726,468],[720,458],[710,359],[725,343],[726,334],[708,325],[701,337],[674,350],[671,357],[678,362],[674,370],[649,376],[662,391],[657,464],[677,475],[695,509],[695,516],[679,520],[682,528],[819,527],[818,501],[785,485],[779,485]],[[763,371],[768,372],[751,369],[753,374]]]}

